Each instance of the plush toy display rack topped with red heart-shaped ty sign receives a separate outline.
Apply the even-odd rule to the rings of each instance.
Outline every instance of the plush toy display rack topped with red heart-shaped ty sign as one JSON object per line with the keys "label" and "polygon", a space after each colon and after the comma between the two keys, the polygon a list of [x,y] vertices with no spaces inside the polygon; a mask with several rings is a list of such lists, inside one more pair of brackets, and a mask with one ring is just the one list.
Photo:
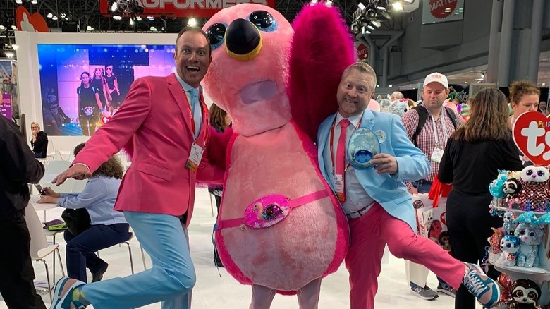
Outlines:
{"label": "plush toy display rack topped with red heart-shaped ty sign", "polygon": [[500,307],[550,308],[549,133],[544,114],[527,111],[518,116],[512,135],[524,167],[499,171],[489,184],[491,214],[502,217],[503,225],[494,226],[487,239],[484,265],[501,271]]}

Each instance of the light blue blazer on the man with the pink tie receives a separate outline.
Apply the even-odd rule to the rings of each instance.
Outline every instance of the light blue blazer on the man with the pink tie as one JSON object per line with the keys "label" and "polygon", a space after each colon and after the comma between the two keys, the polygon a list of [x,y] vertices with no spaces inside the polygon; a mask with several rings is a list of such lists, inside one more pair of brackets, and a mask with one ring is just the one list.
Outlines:
{"label": "light blue blazer on the man with the pink tie", "polygon": [[[332,171],[326,171],[323,154],[324,147],[330,147],[326,142],[329,139],[334,119],[336,119],[336,114],[325,119],[317,133],[319,167],[332,190],[335,190],[331,176]],[[357,179],[371,198],[379,202],[386,212],[406,222],[416,233],[417,224],[415,211],[412,207],[412,196],[408,193],[403,181],[417,181],[426,178],[429,175],[431,164],[426,155],[412,145],[403,123],[397,115],[365,109],[360,128],[369,128],[373,132],[383,131],[385,133],[386,140],[380,143],[381,152],[396,157],[398,173],[392,176],[389,174],[379,175],[374,169],[356,169]]]}

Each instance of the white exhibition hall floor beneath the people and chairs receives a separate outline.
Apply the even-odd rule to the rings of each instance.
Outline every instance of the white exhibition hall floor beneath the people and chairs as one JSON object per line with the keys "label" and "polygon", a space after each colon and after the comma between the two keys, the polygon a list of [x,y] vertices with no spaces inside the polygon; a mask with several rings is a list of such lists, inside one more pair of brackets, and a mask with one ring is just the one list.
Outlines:
{"label": "white exhibition hall floor beneath the people and chairs", "polygon": [[[214,202],[214,213],[216,205]],[[61,210],[47,210],[46,219],[58,219],[61,217]],[[39,217],[43,219],[41,212]],[[189,228],[191,255],[195,263],[197,272],[197,284],[193,290],[193,308],[248,308],[250,303],[250,287],[238,284],[225,269],[218,269],[214,266],[213,247],[212,247],[212,226],[215,219],[210,209],[209,193],[204,188],[197,188],[197,200],[195,201],[195,211],[193,212],[193,221]],[[65,242],[59,234],[56,239],[61,244],[61,257],[65,260]],[[142,259],[140,255],[140,246],[134,238],[131,242],[132,254],[134,260],[135,272],[143,270]],[[113,277],[125,277],[130,274],[130,262],[128,258],[128,249],[124,247],[111,247],[100,251],[102,259],[109,263],[109,269],[104,275],[104,279]],[[151,267],[151,261],[146,255],[147,267]],[[51,259],[48,259],[51,268]],[[56,262],[56,277],[59,278],[59,265]],[[37,281],[46,281],[46,272],[42,263],[34,263]],[[51,272],[50,272],[51,274]],[[89,274],[89,278],[91,275]],[[91,279],[89,279],[91,281]],[[428,286],[435,288],[437,286],[436,277],[430,273],[428,277]],[[329,275],[323,280],[319,309],[349,308],[349,285],[348,272],[343,265],[335,274]],[[49,296],[42,296],[44,303],[49,306]],[[143,308],[160,308],[159,303],[147,305]],[[377,308],[454,308],[454,298],[441,295],[434,301],[424,301],[410,293],[405,279],[405,267],[403,260],[389,256],[388,262],[382,266],[379,277],[379,291],[376,297]],[[0,308],[7,308],[0,297]],[[271,308],[287,309],[298,308],[298,302],[295,296],[277,295]],[[479,305],[477,308],[481,308]]]}

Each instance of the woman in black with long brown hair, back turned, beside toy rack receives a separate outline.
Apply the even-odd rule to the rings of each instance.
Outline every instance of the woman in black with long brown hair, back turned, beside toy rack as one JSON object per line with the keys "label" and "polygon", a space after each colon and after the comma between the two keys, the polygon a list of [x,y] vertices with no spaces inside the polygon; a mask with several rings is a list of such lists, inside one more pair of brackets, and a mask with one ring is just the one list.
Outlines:
{"label": "woman in black with long brown hair, back turned, beside toy rack", "polygon": [[[499,169],[523,169],[507,118],[504,94],[489,88],[480,91],[472,101],[470,119],[448,139],[439,164],[439,181],[453,184],[447,198],[451,253],[463,262],[481,262],[491,227],[503,224],[502,218],[487,211],[492,200],[489,183]],[[499,272],[491,266],[487,275],[496,280]],[[455,308],[475,308],[475,297],[464,285],[456,292]]]}

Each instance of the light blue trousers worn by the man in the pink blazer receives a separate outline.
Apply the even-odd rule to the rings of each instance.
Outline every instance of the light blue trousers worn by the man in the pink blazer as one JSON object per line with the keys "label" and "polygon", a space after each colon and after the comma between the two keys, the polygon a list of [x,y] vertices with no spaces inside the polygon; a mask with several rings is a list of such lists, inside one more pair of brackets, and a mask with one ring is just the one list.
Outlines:
{"label": "light blue trousers worn by the man in the pink blazer", "polygon": [[168,214],[124,212],[124,217],[153,266],[125,278],[86,284],[86,298],[101,309],[138,308],[159,301],[162,309],[189,309],[196,275],[187,230]]}

